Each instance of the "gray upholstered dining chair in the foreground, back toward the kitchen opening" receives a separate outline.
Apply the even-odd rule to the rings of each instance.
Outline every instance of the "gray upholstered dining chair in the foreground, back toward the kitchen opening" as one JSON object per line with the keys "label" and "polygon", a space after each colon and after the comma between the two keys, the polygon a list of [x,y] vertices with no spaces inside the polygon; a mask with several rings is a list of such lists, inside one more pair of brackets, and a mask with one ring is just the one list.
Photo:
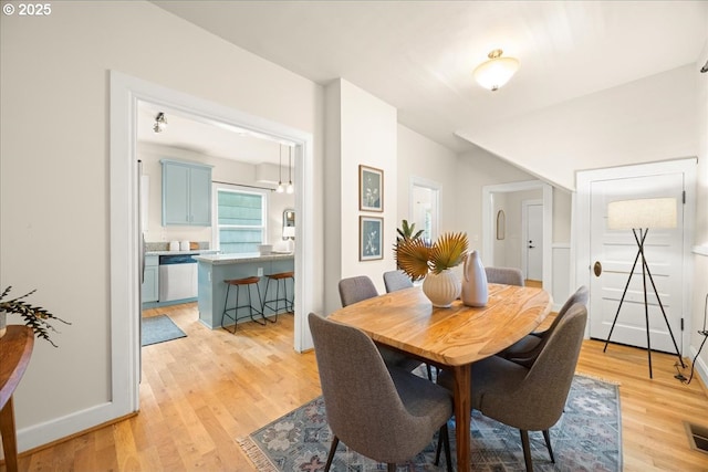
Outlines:
{"label": "gray upholstered dining chair in the foreground, back toward the kitchen opening", "polygon": [[374,342],[358,328],[308,316],[327,422],[334,438],[325,464],[330,470],[340,441],[369,459],[405,462],[433,440],[446,445],[452,469],[447,421],[452,416],[450,392],[408,371],[387,368]]}

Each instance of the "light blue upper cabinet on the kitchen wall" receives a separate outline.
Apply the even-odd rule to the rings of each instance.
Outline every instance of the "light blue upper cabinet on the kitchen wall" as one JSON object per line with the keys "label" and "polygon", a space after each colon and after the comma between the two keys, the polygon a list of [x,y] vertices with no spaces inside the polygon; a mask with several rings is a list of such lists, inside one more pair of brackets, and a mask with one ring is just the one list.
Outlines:
{"label": "light blue upper cabinet on the kitchen wall", "polygon": [[163,225],[211,225],[211,166],[163,159]]}

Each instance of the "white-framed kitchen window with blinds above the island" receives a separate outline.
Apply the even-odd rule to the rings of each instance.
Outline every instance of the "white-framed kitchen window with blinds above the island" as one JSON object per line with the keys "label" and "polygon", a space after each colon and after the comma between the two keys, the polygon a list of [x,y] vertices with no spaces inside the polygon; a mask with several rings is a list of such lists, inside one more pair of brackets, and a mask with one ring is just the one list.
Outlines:
{"label": "white-framed kitchen window with blinds above the island", "polygon": [[216,243],[223,254],[258,252],[266,239],[264,192],[238,187],[216,188]]}

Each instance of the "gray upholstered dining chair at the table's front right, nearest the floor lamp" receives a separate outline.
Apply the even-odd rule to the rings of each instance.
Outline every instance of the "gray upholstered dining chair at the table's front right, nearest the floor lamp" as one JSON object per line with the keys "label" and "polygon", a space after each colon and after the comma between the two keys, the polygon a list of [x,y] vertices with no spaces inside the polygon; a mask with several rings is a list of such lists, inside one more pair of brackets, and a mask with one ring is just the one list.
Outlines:
{"label": "gray upholstered dining chair at the table's front right, nearest the floor lamp", "polygon": [[[527,471],[532,472],[529,431],[542,431],[551,462],[549,429],[563,413],[585,333],[587,310],[571,306],[529,368],[499,356],[472,364],[472,409],[512,428],[519,428]],[[452,378],[442,371],[438,384],[450,388]]]}

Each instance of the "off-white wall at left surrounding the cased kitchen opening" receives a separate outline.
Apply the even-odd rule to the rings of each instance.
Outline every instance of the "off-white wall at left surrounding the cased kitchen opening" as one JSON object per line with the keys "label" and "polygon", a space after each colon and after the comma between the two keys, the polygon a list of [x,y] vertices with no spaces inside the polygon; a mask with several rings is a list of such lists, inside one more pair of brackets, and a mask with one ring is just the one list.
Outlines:
{"label": "off-white wall at left surrounding the cased kitchen opening", "polygon": [[[111,401],[111,70],[312,133],[323,197],[320,86],[149,2],[55,7],[41,21],[0,18],[0,282],[37,287],[33,301],[72,322],[58,349],[35,343],[14,397],[20,450],[55,439],[60,421],[85,429],[83,415]],[[321,261],[321,211],[314,222],[308,256]],[[317,304],[322,284],[319,266]]]}

